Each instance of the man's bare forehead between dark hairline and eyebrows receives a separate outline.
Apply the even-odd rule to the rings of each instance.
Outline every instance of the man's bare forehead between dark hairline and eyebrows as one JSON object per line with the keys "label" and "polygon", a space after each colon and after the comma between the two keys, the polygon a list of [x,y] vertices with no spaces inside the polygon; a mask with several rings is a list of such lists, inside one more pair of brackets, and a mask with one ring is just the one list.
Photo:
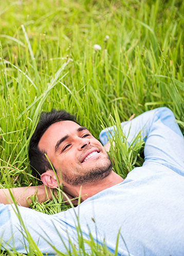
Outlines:
{"label": "man's bare forehead between dark hairline and eyebrows", "polygon": [[81,126],[72,121],[61,121],[51,125],[42,135],[39,142],[39,149],[44,151],[53,148],[59,139],[65,135],[77,133]]}

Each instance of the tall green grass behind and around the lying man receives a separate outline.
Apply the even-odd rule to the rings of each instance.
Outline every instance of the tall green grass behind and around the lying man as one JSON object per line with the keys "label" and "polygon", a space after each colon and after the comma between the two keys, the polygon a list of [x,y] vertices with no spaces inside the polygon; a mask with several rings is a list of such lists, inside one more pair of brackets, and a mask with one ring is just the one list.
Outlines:
{"label": "tall green grass behind and around the lying man", "polygon": [[[0,185],[39,183],[27,149],[42,110],[65,109],[98,138],[102,127],[166,106],[183,132],[183,13],[182,0],[2,1]],[[117,143],[118,174],[142,164],[142,146]]]}

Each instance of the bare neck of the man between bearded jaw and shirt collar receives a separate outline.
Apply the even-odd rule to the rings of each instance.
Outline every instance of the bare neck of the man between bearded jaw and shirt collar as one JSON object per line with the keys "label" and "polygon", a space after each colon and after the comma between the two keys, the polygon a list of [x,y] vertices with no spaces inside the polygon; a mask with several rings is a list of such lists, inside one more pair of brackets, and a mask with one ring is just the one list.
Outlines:
{"label": "bare neck of the man between bearded jaw and shirt collar", "polygon": [[106,178],[97,182],[91,182],[89,184],[84,184],[82,186],[72,186],[64,184],[64,191],[73,197],[82,196],[81,201],[86,200],[88,197],[94,196],[102,190],[108,189],[108,187],[114,186],[121,183],[123,178],[121,178],[115,172],[111,172]]}

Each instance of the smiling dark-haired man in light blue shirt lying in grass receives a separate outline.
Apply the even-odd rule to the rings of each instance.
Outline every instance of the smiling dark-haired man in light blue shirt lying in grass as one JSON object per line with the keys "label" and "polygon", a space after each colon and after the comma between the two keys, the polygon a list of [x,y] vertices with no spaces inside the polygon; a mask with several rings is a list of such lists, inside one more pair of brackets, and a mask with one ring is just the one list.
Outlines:
{"label": "smiling dark-haired man in light blue shirt lying in grass", "polygon": [[[113,172],[104,148],[85,127],[66,113],[64,119],[53,113],[52,121],[51,113],[42,117],[44,122],[31,139],[31,165],[45,185],[54,188],[63,183],[66,193],[71,197],[81,193],[83,202],[54,215],[19,207],[38,248],[43,253],[55,253],[55,248],[66,252],[69,238],[78,248],[79,221],[84,238],[90,232],[99,244],[105,239],[112,252],[120,230],[119,255],[183,255],[184,143],[173,113],[159,108],[122,123],[128,142],[140,131],[145,141],[143,166],[132,170],[124,181]],[[100,133],[102,144],[108,143],[107,133],[111,138],[113,127]],[[17,251],[26,252],[28,242],[15,212],[0,204],[0,237]]]}

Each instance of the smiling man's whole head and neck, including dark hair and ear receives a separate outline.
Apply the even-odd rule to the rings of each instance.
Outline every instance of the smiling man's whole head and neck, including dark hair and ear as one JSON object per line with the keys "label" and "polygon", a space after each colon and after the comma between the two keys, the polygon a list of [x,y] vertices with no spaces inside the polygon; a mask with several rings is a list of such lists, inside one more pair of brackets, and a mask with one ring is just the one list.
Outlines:
{"label": "smiling man's whole head and neck, including dark hair and ear", "polygon": [[[67,120],[66,120],[67,119]],[[58,186],[54,166],[64,191],[82,200],[123,181],[113,172],[112,162],[102,144],[75,117],[64,110],[42,113],[41,122],[31,138],[29,158],[32,170],[41,175],[43,183]],[[36,174],[36,173],[35,173]]]}

